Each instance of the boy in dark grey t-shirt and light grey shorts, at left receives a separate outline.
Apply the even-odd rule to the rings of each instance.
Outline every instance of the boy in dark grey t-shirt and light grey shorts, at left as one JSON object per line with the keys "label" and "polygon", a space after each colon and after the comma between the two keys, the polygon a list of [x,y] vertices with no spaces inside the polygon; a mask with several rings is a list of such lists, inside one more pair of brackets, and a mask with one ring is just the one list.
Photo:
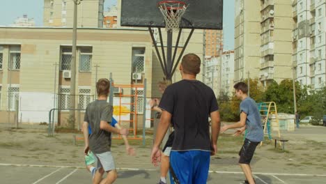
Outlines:
{"label": "boy in dark grey t-shirt and light grey shorts, at left", "polygon": [[[83,127],[91,125],[91,136],[88,139],[88,129],[84,130],[85,148],[84,154],[87,155],[89,149],[95,154],[95,163],[98,168],[93,183],[113,183],[116,178],[116,166],[111,154],[111,132],[127,135],[125,128],[114,128],[109,123],[112,121],[113,107],[107,102],[109,95],[110,82],[108,79],[99,79],[96,83],[98,100],[91,102],[86,107]],[[107,177],[102,178],[104,171]]]}

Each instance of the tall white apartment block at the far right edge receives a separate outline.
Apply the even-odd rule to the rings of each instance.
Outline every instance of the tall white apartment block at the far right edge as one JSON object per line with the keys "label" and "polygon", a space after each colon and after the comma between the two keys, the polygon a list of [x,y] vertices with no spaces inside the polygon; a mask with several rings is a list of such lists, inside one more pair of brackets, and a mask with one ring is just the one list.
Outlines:
{"label": "tall white apartment block at the far right edge", "polygon": [[293,1],[295,78],[311,89],[325,86],[325,0]]}

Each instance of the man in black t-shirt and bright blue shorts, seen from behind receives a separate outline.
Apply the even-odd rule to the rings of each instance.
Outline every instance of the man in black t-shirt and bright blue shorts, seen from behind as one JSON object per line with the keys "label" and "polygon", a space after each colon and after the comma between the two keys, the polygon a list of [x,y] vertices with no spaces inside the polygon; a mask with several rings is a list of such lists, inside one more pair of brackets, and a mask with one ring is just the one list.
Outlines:
{"label": "man in black t-shirt and bright blue shorts, seen from behind", "polygon": [[[219,107],[215,94],[196,80],[201,59],[196,54],[183,56],[180,72],[183,80],[166,88],[159,107],[163,110],[151,153],[153,164],[160,162],[159,146],[169,124],[173,123],[175,137],[170,164],[180,183],[206,183],[210,155],[217,152]],[[208,116],[212,119],[212,135]],[[173,183],[173,177],[171,183]]]}

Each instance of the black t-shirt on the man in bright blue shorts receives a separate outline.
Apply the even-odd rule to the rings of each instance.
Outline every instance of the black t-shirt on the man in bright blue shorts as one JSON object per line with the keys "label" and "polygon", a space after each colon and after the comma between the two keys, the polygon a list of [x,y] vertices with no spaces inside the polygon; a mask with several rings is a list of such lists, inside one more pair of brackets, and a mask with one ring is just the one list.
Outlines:
{"label": "black t-shirt on the man in bright blue shorts", "polygon": [[208,116],[219,109],[215,94],[202,82],[183,79],[166,88],[159,107],[172,114],[172,150],[210,151]]}

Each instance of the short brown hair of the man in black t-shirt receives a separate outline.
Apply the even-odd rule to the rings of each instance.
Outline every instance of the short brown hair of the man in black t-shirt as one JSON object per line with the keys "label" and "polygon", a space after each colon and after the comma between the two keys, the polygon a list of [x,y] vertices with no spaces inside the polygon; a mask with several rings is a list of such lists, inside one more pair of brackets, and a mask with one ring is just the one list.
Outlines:
{"label": "short brown hair of the man in black t-shirt", "polygon": [[186,54],[183,56],[181,66],[186,74],[197,75],[201,71],[201,59],[196,54]]}

